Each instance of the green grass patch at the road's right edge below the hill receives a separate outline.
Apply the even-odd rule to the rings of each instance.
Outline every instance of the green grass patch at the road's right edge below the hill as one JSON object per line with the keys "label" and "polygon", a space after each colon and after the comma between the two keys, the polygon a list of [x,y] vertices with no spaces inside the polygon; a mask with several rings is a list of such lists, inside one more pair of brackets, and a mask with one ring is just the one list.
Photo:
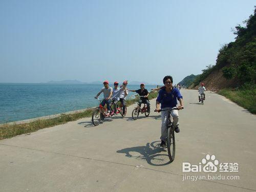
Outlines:
{"label": "green grass patch at the road's right edge below the hill", "polygon": [[247,109],[252,114],[256,114],[256,89],[251,90],[220,90],[218,92],[220,95],[225,96],[238,105]]}

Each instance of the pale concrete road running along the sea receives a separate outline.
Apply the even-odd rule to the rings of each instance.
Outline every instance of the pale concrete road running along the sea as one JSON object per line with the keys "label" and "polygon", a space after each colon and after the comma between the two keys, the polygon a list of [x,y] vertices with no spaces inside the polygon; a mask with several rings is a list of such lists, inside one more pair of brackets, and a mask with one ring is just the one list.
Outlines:
{"label": "pale concrete road running along the sea", "polygon": [[[255,116],[214,93],[206,93],[204,105],[197,91],[181,93],[185,109],[179,111],[174,162],[159,147],[160,114],[134,121],[133,105],[126,117],[99,126],[84,118],[1,140],[0,191],[255,191]],[[218,160],[206,162],[217,172],[182,172],[184,162],[206,165],[207,154]]]}

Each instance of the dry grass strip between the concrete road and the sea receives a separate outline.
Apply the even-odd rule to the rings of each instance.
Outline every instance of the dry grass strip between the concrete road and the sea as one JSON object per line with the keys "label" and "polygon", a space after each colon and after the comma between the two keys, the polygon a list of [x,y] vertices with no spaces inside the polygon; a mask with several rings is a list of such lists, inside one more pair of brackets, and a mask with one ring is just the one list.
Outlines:
{"label": "dry grass strip between the concrete road and the sea", "polygon": [[[156,98],[158,95],[158,92],[151,92],[150,96],[148,96],[148,99]],[[136,97],[134,99],[127,99],[126,105],[132,105],[139,101],[139,97]],[[44,129],[46,127],[52,127],[59,124],[64,124],[69,121],[75,121],[84,117],[91,117],[92,116],[93,109],[88,109],[83,112],[75,112],[73,114],[69,115],[60,115],[56,118],[51,119],[38,119],[29,123],[21,123],[21,124],[1,124],[0,125],[0,140],[11,138],[16,135],[22,135],[27,134],[31,132],[35,132],[40,129]]]}

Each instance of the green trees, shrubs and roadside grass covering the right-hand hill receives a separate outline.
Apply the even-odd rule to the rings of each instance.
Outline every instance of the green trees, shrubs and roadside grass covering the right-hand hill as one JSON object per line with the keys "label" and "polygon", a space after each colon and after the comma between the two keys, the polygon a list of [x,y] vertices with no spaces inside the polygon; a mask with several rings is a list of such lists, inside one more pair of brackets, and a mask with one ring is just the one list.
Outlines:
{"label": "green trees, shrubs and roadside grass covering the right-hand hill", "polygon": [[254,14],[244,21],[245,27],[238,25],[234,42],[224,45],[216,60],[216,65],[206,66],[191,87],[204,81],[212,72],[221,70],[226,80],[233,79],[236,90],[220,90],[218,93],[238,103],[251,113],[256,113],[256,8]]}

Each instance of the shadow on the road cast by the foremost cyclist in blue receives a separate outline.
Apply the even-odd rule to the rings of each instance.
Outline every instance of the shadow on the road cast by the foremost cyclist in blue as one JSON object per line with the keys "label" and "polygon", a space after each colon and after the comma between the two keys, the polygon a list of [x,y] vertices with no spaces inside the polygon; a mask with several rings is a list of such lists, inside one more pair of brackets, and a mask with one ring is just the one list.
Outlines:
{"label": "shadow on the road cast by the foremost cyclist in blue", "polygon": [[[160,141],[153,141],[145,146],[123,148],[117,153],[123,153],[129,158],[145,160],[150,165],[163,166],[170,163],[165,148],[160,147]],[[165,154],[160,154],[161,152],[165,152]]]}

